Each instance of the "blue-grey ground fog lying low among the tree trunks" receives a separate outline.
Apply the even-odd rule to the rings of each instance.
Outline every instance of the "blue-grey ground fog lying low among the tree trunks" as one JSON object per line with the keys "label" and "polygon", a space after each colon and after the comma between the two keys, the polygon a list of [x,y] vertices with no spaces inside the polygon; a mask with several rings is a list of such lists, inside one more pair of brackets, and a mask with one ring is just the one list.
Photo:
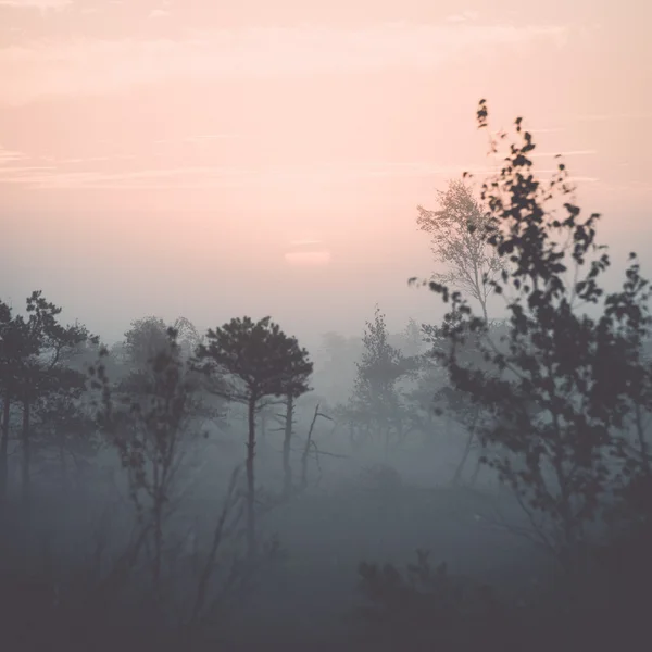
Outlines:
{"label": "blue-grey ground fog lying low among the tree trunks", "polygon": [[[104,362],[114,388],[114,410],[121,410],[121,392],[137,391],[126,388],[136,387],[130,384],[139,377],[139,352],[133,348],[138,328],[147,333],[142,325],[134,325]],[[180,333],[188,335],[183,328]],[[426,350],[406,334],[390,335],[390,340],[405,355]],[[96,352],[97,347],[84,346],[67,364],[77,369],[97,365]],[[431,414],[427,401],[425,409],[419,408],[418,399],[413,400],[408,418],[421,419],[421,425],[405,424],[401,432],[383,436],[349,425],[340,411],[353,393],[363,341],[329,334],[315,353],[314,389],[294,406],[289,493],[283,463],[284,400],[263,401],[259,406],[256,536],[262,550],[255,564],[244,563],[243,516],[238,512],[248,437],[243,405],[225,403],[209,392],[201,406],[186,408],[188,419],[175,430],[174,478],[160,480],[155,457],[145,466],[146,487],[154,491],[160,481],[166,496],[158,589],[163,594],[158,609],[164,620],[138,606],[142,587],[150,584],[155,553],[146,544],[137,560],[125,562],[147,531],[139,524],[147,523],[156,494],[139,485],[134,457],[123,457],[121,465],[126,449],[118,443],[124,440],[113,439],[117,431],[100,429],[98,436],[89,421],[98,410],[92,406],[98,391],[74,394],[78,413],[66,412],[70,403],[58,403],[55,397],[35,404],[28,472],[18,463],[27,441],[25,409],[14,402],[2,516],[8,630],[20,634],[21,623],[38,623],[48,636],[61,637],[73,649],[109,650],[125,641],[148,650],[186,644],[201,649],[218,641],[225,650],[254,650],[271,640],[291,650],[306,645],[378,649],[387,641],[378,640],[375,627],[358,615],[365,604],[356,579],[362,561],[400,566],[423,549],[437,564],[446,561],[452,573],[498,581],[509,594],[528,594],[547,581],[551,560],[497,525],[499,507],[500,518],[512,527],[525,522],[501,491],[496,474],[479,468],[478,451],[464,465],[463,479],[455,480],[467,439],[463,427],[449,416]],[[432,391],[442,380],[434,381]],[[416,378],[405,379],[401,390],[408,397],[417,386]],[[147,410],[149,403],[142,405]],[[145,435],[146,451],[152,446],[150,436]],[[234,472],[239,475],[229,493]],[[138,502],[130,493],[135,487],[140,487]],[[139,513],[143,522],[136,518]],[[227,516],[226,527],[213,549],[222,514]],[[198,586],[212,551],[216,554],[205,604],[195,622]],[[128,574],[128,580],[121,573]],[[47,602],[43,606],[41,588],[48,582],[57,589],[51,611]],[[180,638],[173,626],[176,618],[184,624]],[[192,634],[186,629],[190,626]],[[392,636],[388,649],[396,644]]]}

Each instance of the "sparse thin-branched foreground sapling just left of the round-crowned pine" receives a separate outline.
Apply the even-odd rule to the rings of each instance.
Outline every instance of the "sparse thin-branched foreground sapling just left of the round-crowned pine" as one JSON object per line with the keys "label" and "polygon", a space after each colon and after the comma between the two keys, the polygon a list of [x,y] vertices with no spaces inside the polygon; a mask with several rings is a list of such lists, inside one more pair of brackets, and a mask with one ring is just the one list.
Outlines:
{"label": "sparse thin-branched foreground sapling just left of the round-crowned pine", "polygon": [[[249,590],[254,569],[242,567],[237,550],[225,550],[242,516],[240,467],[231,474],[216,510],[208,546],[202,547],[204,554],[196,550],[191,562],[179,556],[171,517],[185,498],[183,474],[189,471],[186,462],[191,448],[202,439],[204,410],[202,386],[192,363],[184,359],[178,333],[168,328],[165,335],[166,342],[161,342],[145,368],[136,367],[127,381],[111,383],[104,368],[110,358],[106,349],[89,369],[92,389],[100,392],[96,417],[118,454],[137,516],[123,564],[96,591],[111,589],[115,582],[124,585],[142,601],[136,612],[139,618],[158,618],[153,623],[161,628],[165,623],[173,625],[174,616],[170,635],[180,635],[188,644],[214,623],[226,602]],[[226,556],[233,557],[230,564],[225,564]],[[139,581],[142,560],[150,590],[146,590],[148,582]],[[129,600],[124,592],[120,599]],[[116,606],[123,607],[122,603]]]}

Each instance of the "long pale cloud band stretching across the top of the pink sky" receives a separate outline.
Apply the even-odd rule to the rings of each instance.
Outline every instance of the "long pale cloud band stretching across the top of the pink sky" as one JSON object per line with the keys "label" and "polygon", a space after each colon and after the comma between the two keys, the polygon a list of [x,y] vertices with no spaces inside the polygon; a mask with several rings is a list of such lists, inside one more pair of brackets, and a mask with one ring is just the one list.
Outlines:
{"label": "long pale cloud band stretching across the top of the pink sky", "polygon": [[[1,0],[0,0],[1,1]],[[48,40],[0,49],[0,101],[104,93],[167,79],[429,68],[490,48],[563,43],[563,26],[386,23],[359,29],[268,27],[183,40]]]}

